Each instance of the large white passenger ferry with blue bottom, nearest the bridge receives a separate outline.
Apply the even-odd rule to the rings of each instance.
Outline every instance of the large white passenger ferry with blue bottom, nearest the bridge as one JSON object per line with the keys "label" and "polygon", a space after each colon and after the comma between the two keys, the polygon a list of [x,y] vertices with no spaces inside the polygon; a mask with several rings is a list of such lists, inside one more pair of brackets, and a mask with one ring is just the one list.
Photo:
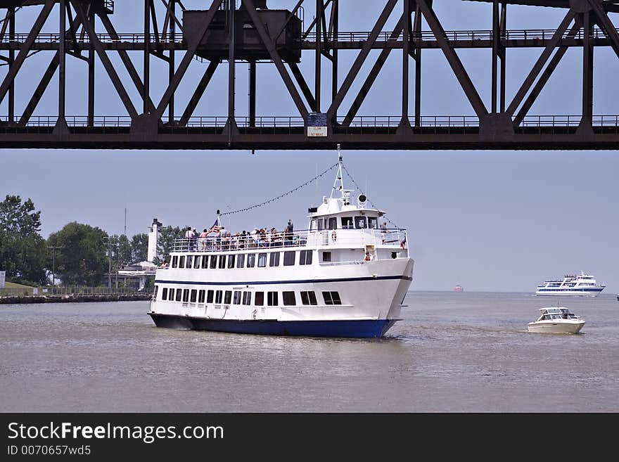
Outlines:
{"label": "large white passenger ferry with blue bottom, nearest the bridge", "polygon": [[155,275],[148,313],[155,324],[231,333],[382,337],[400,320],[412,281],[407,231],[386,228],[385,212],[366,207],[364,194],[351,197],[354,190],[344,188],[339,153],[335,167],[331,197],[309,208],[306,230],[270,240],[177,240],[170,266]]}

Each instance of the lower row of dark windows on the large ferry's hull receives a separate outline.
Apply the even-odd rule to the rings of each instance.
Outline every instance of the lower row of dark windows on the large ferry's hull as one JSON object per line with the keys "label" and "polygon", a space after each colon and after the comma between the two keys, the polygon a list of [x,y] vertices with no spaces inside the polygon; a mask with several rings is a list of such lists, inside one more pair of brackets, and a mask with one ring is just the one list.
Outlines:
{"label": "lower row of dark windows on the large ferry's hull", "polygon": [[[155,285],[155,300],[157,298],[158,285]],[[264,306],[264,291],[257,290],[207,290],[207,289],[177,289],[164,287],[161,290],[161,300],[185,303],[215,303],[215,304],[253,304],[257,307]],[[301,304],[317,305],[318,300],[314,290],[300,291]],[[340,294],[336,290],[324,291],[322,293],[324,304],[342,304]],[[297,304],[297,297],[294,290],[284,290],[281,293],[281,300],[285,306]],[[267,306],[276,307],[279,305],[279,292],[267,291]]]}

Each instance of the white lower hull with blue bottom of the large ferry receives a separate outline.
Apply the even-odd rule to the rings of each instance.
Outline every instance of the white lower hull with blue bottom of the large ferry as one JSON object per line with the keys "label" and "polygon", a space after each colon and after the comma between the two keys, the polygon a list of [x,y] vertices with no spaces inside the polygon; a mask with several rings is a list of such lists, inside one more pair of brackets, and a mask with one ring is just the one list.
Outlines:
{"label": "white lower hull with blue bottom of the large ferry", "polygon": [[[188,288],[194,292],[203,288],[236,290],[239,293],[256,290],[279,293],[288,290],[297,294],[296,304],[238,304],[240,297],[236,304],[200,303],[199,300],[172,302],[155,297],[155,300],[151,300],[148,314],[160,327],[267,335],[377,338],[400,319],[402,302],[412,280],[413,266],[414,261],[410,258],[341,264],[321,267],[321,278],[308,278],[318,270],[308,266],[298,269],[296,273],[282,269],[279,274],[262,281],[213,281],[209,276],[217,276],[215,271],[207,271],[203,278],[200,278],[200,271],[191,271],[189,274],[198,274],[195,280],[174,281],[170,277],[174,274],[166,272],[166,278],[155,279],[155,284],[176,287],[177,290]],[[300,277],[293,279],[291,276]],[[299,293],[302,291],[316,293],[317,302],[300,304]],[[337,291],[339,304],[320,303],[324,293],[330,291]]]}

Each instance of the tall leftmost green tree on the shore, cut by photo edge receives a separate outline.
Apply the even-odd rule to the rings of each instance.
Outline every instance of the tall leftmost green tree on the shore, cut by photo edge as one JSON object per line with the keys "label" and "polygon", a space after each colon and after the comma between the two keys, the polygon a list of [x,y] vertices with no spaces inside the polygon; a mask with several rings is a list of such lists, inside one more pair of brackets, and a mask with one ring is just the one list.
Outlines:
{"label": "tall leftmost green tree on the shore, cut by photo edge", "polygon": [[0,269],[13,281],[46,281],[46,245],[39,234],[41,212],[30,198],[6,195],[0,202]]}

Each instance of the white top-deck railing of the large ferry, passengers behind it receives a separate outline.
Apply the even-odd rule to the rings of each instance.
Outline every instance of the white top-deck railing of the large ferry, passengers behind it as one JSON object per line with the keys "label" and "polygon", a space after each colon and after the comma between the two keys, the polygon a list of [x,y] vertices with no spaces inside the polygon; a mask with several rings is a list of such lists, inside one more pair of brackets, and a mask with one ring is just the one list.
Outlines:
{"label": "white top-deck railing of the large ferry, passengers behind it", "polygon": [[376,247],[404,248],[407,243],[406,229],[322,229],[294,231],[291,234],[277,232],[216,236],[210,233],[205,238],[175,239],[172,252],[225,252],[229,250],[301,248],[307,245],[320,247],[374,245]]}

